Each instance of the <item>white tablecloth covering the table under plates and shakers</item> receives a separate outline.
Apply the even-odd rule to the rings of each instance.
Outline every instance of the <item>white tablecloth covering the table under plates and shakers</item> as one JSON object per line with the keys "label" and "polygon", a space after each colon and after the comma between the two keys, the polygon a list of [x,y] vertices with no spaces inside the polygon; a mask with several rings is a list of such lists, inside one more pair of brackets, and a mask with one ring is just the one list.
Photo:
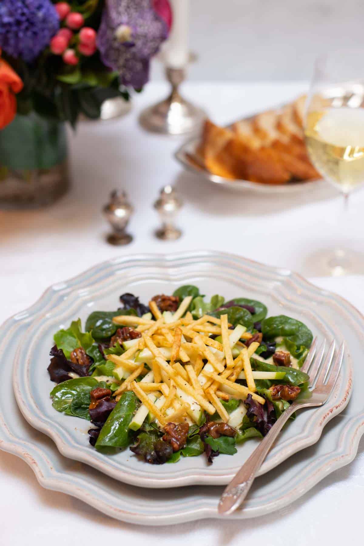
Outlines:
{"label": "white tablecloth covering the table under plates and shakers", "polygon": [[[186,96],[204,104],[223,123],[281,103],[304,88],[303,84],[189,84]],[[307,257],[321,248],[350,240],[352,247],[363,250],[364,192],[351,199],[348,222],[343,224],[342,204],[326,185],[291,197],[268,198],[230,193],[183,173],[171,157],[181,139],[146,134],[136,123],[140,109],[164,94],[163,84],[152,84],[135,98],[127,117],[80,124],[70,136],[73,188],[55,206],[0,212],[0,322],[31,305],[49,284],[118,254],[212,248],[317,276],[318,267],[308,265]],[[159,188],[166,183],[175,183],[185,201],[179,217],[184,236],[168,243],[153,236],[158,219],[152,210]],[[100,213],[114,187],[126,189],[135,206],[130,222],[134,242],[122,249],[105,243],[108,227]],[[364,312],[364,276],[315,282]],[[0,544],[61,546],[67,540],[73,546],[115,539],[149,546],[202,540],[224,546],[252,539],[267,545],[335,546],[361,537],[363,448],[361,442],[351,465],[282,512],[241,523],[206,520],[156,529],[111,520],[67,495],[46,491],[25,462],[0,452]]]}

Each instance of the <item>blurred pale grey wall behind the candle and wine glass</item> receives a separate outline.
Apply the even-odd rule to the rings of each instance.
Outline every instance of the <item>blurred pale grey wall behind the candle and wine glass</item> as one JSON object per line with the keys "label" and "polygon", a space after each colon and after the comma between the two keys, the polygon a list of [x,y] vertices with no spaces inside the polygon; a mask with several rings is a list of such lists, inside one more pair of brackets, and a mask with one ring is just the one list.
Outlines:
{"label": "blurred pale grey wall behind the candle and wine glass", "polygon": [[[183,0],[181,0],[183,1]],[[190,80],[307,80],[315,56],[363,46],[362,0],[190,0]],[[163,79],[154,61],[152,78]]]}

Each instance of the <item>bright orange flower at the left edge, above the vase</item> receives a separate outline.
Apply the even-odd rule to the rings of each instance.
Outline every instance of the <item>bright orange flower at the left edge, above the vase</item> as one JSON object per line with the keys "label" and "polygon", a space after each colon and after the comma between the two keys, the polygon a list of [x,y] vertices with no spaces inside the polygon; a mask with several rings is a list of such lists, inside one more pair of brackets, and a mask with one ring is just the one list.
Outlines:
{"label": "bright orange flower at the left edge, above the vase", "polygon": [[19,93],[22,88],[23,82],[19,76],[0,57],[0,130],[13,121],[16,114],[15,93]]}

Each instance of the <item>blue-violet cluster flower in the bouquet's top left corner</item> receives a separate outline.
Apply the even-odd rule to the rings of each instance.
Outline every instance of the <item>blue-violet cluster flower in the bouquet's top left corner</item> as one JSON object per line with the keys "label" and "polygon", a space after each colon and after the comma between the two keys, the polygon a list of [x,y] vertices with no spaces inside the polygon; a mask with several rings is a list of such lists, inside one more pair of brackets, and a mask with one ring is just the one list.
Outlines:
{"label": "blue-violet cluster flower in the bouquet's top left corner", "polygon": [[0,48],[11,57],[32,62],[59,28],[50,0],[1,0]]}

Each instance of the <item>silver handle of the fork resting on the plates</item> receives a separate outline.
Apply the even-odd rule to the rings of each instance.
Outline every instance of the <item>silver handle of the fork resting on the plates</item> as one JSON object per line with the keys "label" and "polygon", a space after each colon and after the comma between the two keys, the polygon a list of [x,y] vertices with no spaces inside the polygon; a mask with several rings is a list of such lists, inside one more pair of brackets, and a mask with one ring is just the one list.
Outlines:
{"label": "silver handle of the fork resting on the plates", "polygon": [[259,446],[254,449],[249,459],[244,462],[243,466],[231,480],[220,498],[218,506],[219,514],[231,514],[241,505],[252,486],[256,472],[258,472],[262,462],[266,458],[266,455],[281,431],[282,426],[296,410],[297,406],[291,404],[277,419],[268,434],[261,440]]}

